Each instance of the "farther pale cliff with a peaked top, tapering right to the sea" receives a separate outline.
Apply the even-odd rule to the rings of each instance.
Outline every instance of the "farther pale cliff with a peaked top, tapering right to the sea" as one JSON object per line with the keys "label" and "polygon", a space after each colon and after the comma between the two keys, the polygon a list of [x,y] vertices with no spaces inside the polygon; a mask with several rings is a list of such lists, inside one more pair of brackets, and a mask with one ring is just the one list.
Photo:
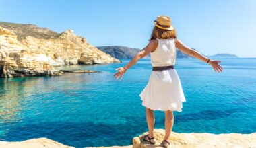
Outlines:
{"label": "farther pale cliff with a peaked top, tapering right to the sea", "polygon": [[78,62],[83,64],[120,62],[87,43],[85,38],[77,36],[73,30],[67,30],[57,38],[38,39],[27,36],[20,42],[36,54],[44,55],[41,56],[42,59],[48,59],[50,64],[55,66],[73,65]]}

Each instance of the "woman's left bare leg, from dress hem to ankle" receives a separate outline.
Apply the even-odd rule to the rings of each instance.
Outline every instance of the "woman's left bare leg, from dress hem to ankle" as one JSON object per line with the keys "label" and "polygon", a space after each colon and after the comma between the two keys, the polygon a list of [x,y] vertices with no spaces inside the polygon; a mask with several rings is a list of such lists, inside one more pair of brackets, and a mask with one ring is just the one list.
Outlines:
{"label": "woman's left bare leg, from dress hem to ankle", "polygon": [[146,118],[148,123],[148,134],[150,137],[154,137],[153,131],[154,131],[154,124],[155,124],[155,117],[154,117],[154,111],[150,108],[146,108]]}

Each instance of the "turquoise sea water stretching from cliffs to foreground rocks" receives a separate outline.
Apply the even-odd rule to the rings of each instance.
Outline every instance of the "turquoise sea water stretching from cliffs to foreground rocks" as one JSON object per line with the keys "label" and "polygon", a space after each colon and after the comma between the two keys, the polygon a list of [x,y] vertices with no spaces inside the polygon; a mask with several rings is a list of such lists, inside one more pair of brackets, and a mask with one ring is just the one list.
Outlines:
{"label": "turquoise sea water stretching from cliffs to foreground rocks", "polygon": [[[195,59],[177,59],[176,69],[187,102],[174,113],[179,133],[256,132],[256,59],[221,59],[224,71]],[[58,77],[0,79],[0,141],[47,137],[74,147],[131,145],[147,131],[139,93],[150,77],[150,60],[142,59],[114,79],[106,65],[71,65],[101,73]],[[155,112],[156,128],[164,113]]]}

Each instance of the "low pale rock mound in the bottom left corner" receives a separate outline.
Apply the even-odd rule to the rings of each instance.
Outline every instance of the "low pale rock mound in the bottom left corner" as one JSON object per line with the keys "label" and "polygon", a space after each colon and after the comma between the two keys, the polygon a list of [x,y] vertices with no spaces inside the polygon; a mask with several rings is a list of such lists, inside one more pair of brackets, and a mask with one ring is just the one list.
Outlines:
{"label": "low pale rock mound in the bottom left corner", "polygon": [[1,148],[73,148],[67,145],[63,145],[61,143],[58,143],[57,141],[53,141],[51,139],[47,138],[38,138],[38,139],[30,139],[26,141],[20,141],[20,142],[6,142],[6,141],[0,141],[0,147]]}

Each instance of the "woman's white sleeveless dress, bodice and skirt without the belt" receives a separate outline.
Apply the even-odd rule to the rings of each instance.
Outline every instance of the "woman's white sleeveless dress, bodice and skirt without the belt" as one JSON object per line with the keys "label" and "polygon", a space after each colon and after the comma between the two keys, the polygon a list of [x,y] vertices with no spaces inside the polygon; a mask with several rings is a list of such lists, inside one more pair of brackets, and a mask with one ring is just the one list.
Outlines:
{"label": "woman's white sleeveless dress, bodice and skirt without the belt", "polygon": [[[158,47],[151,52],[153,67],[174,65],[176,47],[173,38],[157,39]],[[172,110],[182,112],[185,96],[181,81],[175,69],[152,71],[146,87],[139,94],[142,105],[152,110]]]}

